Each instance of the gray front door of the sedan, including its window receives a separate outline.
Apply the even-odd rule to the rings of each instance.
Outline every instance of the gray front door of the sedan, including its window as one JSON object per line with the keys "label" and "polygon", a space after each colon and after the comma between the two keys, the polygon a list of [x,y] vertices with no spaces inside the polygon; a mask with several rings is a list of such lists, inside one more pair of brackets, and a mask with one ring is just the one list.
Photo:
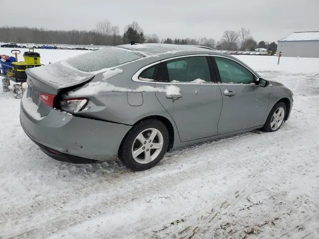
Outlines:
{"label": "gray front door of the sedan, including its window", "polygon": [[243,64],[221,56],[212,60],[223,97],[218,133],[262,125],[269,103],[268,88],[257,86],[257,76]]}

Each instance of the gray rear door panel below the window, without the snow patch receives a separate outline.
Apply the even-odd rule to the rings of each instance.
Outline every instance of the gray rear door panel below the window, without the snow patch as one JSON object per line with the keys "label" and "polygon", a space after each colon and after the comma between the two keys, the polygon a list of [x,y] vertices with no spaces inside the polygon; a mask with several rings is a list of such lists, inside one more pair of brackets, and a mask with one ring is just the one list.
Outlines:
{"label": "gray rear door panel below the window, without the snow patch", "polygon": [[156,96],[174,120],[180,141],[215,135],[222,108],[219,87],[187,83],[178,84],[178,87],[182,96],[178,100],[167,99],[163,92],[156,92]]}

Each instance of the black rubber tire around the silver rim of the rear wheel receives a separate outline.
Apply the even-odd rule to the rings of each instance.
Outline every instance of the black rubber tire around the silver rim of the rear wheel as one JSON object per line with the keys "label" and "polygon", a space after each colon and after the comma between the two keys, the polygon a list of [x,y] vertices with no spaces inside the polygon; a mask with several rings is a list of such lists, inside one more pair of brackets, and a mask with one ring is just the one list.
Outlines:
{"label": "black rubber tire around the silver rim of the rear wheel", "polygon": [[[133,143],[135,142],[136,137],[141,132],[143,132],[144,130],[148,128],[156,128],[157,130],[160,131],[163,137],[163,146],[161,148],[160,154],[153,161],[149,163],[139,163],[134,159],[132,155]],[[163,158],[165,152],[167,151],[168,140],[169,140],[168,130],[166,126],[160,120],[146,119],[134,125],[133,128],[125,136],[119,149],[119,158],[125,166],[127,166],[128,168],[134,171],[142,171],[142,170],[152,168],[156,164],[158,164],[160,160]],[[150,153],[151,153],[151,150],[150,150]]]}

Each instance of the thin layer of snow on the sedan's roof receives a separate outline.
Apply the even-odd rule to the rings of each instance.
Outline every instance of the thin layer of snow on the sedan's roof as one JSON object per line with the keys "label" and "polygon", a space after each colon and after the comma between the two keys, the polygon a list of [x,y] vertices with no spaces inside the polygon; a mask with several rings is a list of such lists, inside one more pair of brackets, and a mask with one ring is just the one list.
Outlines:
{"label": "thin layer of snow on the sedan's roof", "polygon": [[175,45],[175,44],[163,44],[163,43],[144,43],[144,44],[125,44],[119,45],[117,47],[126,48],[134,51],[139,51],[146,55],[156,56],[162,54],[173,54],[177,52],[187,52],[187,51],[208,51],[211,49],[201,48],[194,45]]}

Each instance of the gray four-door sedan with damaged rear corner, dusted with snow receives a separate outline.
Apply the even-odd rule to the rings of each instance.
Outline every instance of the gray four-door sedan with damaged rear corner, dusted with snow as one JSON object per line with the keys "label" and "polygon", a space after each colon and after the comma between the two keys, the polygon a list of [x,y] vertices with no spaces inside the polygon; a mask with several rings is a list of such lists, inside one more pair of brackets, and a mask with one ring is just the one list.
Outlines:
{"label": "gray four-door sedan with damaged rear corner, dusted with snow", "polygon": [[149,169],[173,148],[276,131],[293,107],[284,85],[197,46],[132,43],[26,72],[22,128],[46,154],[72,163],[119,157]]}

